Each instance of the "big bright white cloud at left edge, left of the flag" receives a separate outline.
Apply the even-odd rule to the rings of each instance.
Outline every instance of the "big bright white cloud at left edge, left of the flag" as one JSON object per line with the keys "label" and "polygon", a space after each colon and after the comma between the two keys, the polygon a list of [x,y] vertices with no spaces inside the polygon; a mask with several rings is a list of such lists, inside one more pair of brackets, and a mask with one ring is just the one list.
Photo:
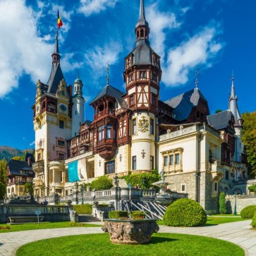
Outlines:
{"label": "big bright white cloud at left edge, left of the flag", "polygon": [[0,98],[18,87],[23,73],[47,78],[52,46],[37,35],[36,18],[25,0],[0,1]]}

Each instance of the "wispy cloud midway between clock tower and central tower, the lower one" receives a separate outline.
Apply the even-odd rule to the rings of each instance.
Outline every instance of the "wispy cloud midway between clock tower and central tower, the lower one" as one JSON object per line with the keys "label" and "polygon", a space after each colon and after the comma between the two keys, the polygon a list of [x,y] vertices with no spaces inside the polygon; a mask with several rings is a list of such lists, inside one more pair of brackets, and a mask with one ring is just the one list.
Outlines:
{"label": "wispy cloud midway between clock tower and central tower, the lower one", "polygon": [[104,47],[96,46],[85,53],[85,64],[90,66],[95,76],[106,74],[106,63],[114,65],[123,47],[118,42],[110,42]]}

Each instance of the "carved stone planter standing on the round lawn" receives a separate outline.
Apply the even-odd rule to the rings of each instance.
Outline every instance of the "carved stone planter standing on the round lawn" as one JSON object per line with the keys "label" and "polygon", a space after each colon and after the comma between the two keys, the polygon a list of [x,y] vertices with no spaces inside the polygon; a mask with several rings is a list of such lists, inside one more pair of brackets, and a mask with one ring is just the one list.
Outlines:
{"label": "carved stone planter standing on the round lawn", "polygon": [[156,219],[104,219],[102,230],[118,244],[150,243],[152,233],[159,231]]}

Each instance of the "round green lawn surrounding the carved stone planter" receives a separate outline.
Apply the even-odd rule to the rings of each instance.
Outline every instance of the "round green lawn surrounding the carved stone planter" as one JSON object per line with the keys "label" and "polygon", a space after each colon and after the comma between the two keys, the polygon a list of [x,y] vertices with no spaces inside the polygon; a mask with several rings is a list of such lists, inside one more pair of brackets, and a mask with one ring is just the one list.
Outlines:
{"label": "round green lawn surrounding the carved stone planter", "polygon": [[[47,250],[46,250],[47,248]],[[114,245],[109,234],[65,236],[39,240],[20,247],[17,256],[155,256],[155,255],[240,256],[243,249],[233,243],[215,238],[173,233],[157,233],[147,245]]]}

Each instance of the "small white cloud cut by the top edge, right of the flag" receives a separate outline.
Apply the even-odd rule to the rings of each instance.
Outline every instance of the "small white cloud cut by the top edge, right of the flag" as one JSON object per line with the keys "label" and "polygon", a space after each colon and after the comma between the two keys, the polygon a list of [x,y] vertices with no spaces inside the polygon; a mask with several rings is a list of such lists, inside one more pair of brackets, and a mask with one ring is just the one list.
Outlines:
{"label": "small white cloud cut by the top edge, right of the flag", "polygon": [[118,0],[80,0],[81,6],[78,11],[85,16],[90,16],[106,10],[107,7],[114,8],[117,1]]}

